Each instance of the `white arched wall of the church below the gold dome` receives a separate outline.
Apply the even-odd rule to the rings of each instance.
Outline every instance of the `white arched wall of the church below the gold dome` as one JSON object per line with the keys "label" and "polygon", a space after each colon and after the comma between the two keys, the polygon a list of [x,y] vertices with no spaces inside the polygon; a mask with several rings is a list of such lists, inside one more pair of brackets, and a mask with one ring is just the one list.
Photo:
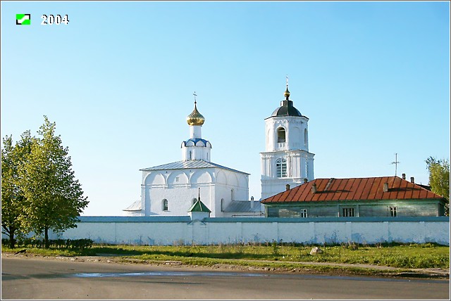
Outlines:
{"label": "white arched wall of the church below the gold dome", "polygon": [[[142,208],[135,215],[185,216],[198,198],[211,210],[211,217],[223,217],[224,205],[234,200],[249,200],[249,176],[241,172],[217,167],[174,169],[143,172]],[[233,193],[232,193],[233,190]],[[168,210],[163,210],[163,200]]]}

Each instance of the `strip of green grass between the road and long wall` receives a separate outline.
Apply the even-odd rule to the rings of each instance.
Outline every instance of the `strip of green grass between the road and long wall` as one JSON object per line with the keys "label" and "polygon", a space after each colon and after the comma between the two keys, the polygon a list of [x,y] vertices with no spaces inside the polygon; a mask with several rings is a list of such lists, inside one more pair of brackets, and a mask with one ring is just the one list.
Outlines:
{"label": "strip of green grass between the road and long wall", "polygon": [[[86,256],[99,254],[120,255],[124,259],[150,262],[177,261],[183,264],[211,266],[239,264],[254,267],[299,267],[301,262],[328,262],[347,264],[375,264],[400,269],[449,268],[450,247],[426,244],[343,244],[320,246],[322,254],[310,255],[312,246],[304,245],[93,245],[85,250],[27,249],[27,253],[43,256]],[[5,246],[2,252],[17,252]],[[271,262],[268,262],[271,261]],[[303,264],[305,266],[305,264]]]}

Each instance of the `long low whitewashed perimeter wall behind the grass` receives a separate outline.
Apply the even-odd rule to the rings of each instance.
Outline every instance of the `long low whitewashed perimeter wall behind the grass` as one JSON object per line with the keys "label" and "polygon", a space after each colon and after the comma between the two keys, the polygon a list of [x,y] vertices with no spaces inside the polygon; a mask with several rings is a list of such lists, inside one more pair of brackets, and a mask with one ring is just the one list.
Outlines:
{"label": "long low whitewashed perimeter wall behind the grass", "polygon": [[206,218],[81,217],[78,228],[51,238],[96,243],[182,245],[219,243],[440,243],[450,245],[449,217]]}

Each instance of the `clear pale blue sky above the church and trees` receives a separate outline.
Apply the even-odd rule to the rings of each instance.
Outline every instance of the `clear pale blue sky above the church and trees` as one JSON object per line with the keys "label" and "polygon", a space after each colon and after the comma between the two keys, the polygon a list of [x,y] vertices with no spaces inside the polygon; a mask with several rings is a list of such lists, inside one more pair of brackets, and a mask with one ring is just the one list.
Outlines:
{"label": "clear pale blue sky above the church and trees", "polygon": [[124,215],[140,169],[182,160],[194,91],[211,161],[259,199],[287,75],[316,179],[392,176],[397,158],[428,184],[425,160],[450,158],[448,1],[1,1],[1,137],[56,122],[82,215]]}

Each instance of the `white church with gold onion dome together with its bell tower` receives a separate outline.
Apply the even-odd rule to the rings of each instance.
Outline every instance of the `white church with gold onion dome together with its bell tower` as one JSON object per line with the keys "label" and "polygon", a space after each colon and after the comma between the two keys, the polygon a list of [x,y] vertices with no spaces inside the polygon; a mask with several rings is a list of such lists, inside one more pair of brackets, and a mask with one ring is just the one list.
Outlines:
{"label": "white church with gold onion dome together with its bell tower", "polygon": [[[249,174],[211,162],[211,143],[202,138],[205,118],[195,96],[194,92],[194,110],[187,116],[190,138],[181,144],[182,160],[140,169],[141,199],[123,211],[129,216],[186,216],[204,208],[210,217],[264,217],[263,205],[249,200]],[[284,96],[265,120],[261,199],[314,179],[309,119],[290,101],[288,82]]]}

